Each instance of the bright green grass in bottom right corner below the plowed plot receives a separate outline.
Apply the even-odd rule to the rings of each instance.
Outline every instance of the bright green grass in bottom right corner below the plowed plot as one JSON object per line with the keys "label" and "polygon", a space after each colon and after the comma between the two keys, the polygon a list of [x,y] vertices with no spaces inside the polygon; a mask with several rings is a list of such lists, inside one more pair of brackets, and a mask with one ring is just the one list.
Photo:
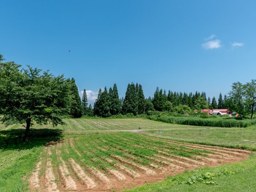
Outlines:
{"label": "bright green grass in bottom right corner below the plowed plot", "polygon": [[[193,184],[178,184],[180,179],[186,180],[193,177],[195,174],[214,173],[219,170],[227,170],[236,172],[234,174],[225,176],[216,176],[207,181],[216,182],[216,184],[205,184],[196,181]],[[250,159],[218,167],[204,167],[196,172],[185,172],[174,177],[168,177],[164,181],[156,182],[153,184],[146,184],[142,187],[130,189],[125,192],[140,192],[140,191],[158,191],[158,192],[180,192],[180,191],[193,191],[193,192],[253,192],[256,189],[256,155],[251,155]]]}

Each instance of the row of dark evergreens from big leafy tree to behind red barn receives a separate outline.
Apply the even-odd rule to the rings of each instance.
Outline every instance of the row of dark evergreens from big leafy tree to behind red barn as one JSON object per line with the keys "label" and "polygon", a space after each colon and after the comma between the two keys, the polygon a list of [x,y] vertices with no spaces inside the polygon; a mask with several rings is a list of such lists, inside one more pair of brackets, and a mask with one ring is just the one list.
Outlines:
{"label": "row of dark evergreens from big leafy tree to behind red barn", "polygon": [[94,109],[91,104],[89,107],[87,101],[86,90],[83,90],[82,102],[79,97],[78,88],[75,84],[75,80],[72,78],[67,79],[71,83],[72,92],[72,104],[70,109],[70,115],[74,117],[81,116],[100,116],[110,117],[117,114],[128,114],[133,115],[147,113],[148,110],[158,111],[174,111],[174,108],[180,105],[188,106],[190,109],[222,109],[228,108],[230,100],[227,96],[222,99],[222,94],[219,94],[218,103],[213,97],[206,97],[206,93],[201,94],[196,91],[195,94],[190,92],[178,93],[176,91],[168,91],[166,94],[165,90],[157,87],[154,97],[145,99],[142,85],[136,83],[129,83],[125,98],[119,98],[116,83],[114,83],[113,89],[110,87],[109,91],[105,87],[104,91],[99,89],[98,98],[95,100]]}

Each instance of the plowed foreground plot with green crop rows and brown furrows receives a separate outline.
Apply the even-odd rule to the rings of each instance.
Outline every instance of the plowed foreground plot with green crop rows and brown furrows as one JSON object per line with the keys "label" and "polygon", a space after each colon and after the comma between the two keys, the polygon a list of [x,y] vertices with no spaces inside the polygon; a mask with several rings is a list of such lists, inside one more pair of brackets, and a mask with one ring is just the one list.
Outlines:
{"label": "plowed foreground plot with green crop rows and brown furrows", "polygon": [[91,134],[45,147],[32,191],[120,191],[185,170],[242,161],[246,150],[174,142],[138,133]]}

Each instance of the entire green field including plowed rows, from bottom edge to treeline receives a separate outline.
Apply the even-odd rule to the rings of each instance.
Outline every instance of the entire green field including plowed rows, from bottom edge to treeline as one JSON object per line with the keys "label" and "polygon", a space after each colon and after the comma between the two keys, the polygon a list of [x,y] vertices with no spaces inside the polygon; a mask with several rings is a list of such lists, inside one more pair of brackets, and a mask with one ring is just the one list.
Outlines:
{"label": "entire green field including plowed rows, from bottom edge to treeline", "polygon": [[[130,191],[256,188],[252,179],[256,176],[255,155],[226,164],[245,157],[236,148],[256,150],[255,127],[198,127],[139,118],[64,121],[66,125],[54,129],[35,124],[27,144],[21,142],[24,127],[0,125],[0,191],[36,191],[37,183],[43,191],[52,190],[49,186],[56,191],[90,187],[119,191],[124,186]],[[192,143],[234,149],[219,150]],[[212,178],[207,178],[206,173]],[[31,175],[38,181],[31,181]],[[167,175],[171,177],[166,178]],[[195,179],[195,175],[200,177]],[[48,177],[54,178],[54,182],[48,181]],[[195,182],[189,184],[191,180]],[[146,184],[151,182],[154,183]]]}

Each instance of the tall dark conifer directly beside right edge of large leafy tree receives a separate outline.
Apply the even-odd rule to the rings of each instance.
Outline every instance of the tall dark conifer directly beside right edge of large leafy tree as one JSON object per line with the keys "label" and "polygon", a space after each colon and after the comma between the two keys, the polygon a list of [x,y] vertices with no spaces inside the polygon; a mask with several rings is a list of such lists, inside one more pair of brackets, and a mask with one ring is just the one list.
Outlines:
{"label": "tall dark conifer directly beside right edge of large leafy tree", "polygon": [[73,117],[82,117],[83,107],[81,98],[78,93],[78,87],[76,86],[75,79],[68,79],[70,82],[70,90],[71,90],[71,106],[70,106],[70,115]]}

